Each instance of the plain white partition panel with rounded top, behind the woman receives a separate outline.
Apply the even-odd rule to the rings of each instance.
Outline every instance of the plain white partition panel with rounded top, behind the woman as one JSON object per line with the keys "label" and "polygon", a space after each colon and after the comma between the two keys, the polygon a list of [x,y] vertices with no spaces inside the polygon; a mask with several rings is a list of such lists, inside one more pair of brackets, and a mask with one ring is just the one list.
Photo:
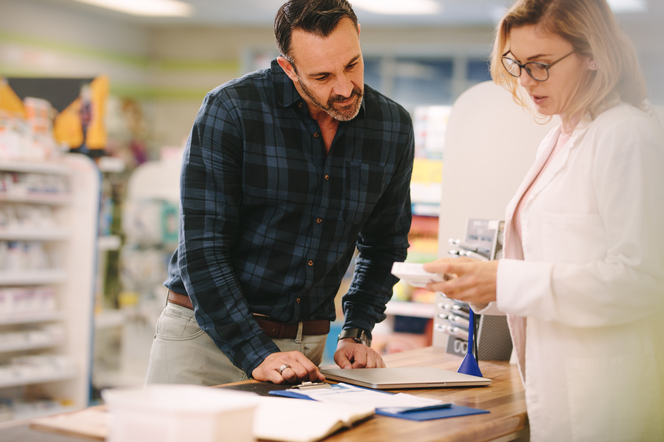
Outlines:
{"label": "plain white partition panel with rounded top, behind the woman", "polygon": [[[438,256],[448,256],[448,239],[463,237],[467,218],[504,219],[541,140],[559,123],[558,117],[538,123],[493,82],[461,94],[452,107],[445,141]],[[434,345],[446,345],[447,336],[434,333]]]}

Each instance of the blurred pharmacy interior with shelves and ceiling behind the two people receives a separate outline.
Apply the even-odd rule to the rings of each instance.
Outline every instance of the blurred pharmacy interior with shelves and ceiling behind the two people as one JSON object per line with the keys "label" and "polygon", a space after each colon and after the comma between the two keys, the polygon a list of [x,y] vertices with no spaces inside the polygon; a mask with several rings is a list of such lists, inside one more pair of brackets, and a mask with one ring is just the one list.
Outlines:
{"label": "blurred pharmacy interior with shelves and ceiling behind the two people", "polygon": [[[414,121],[408,261],[434,260],[447,119],[463,91],[490,80],[493,29],[511,1],[352,3],[365,82]],[[610,3],[637,46],[649,99],[663,105],[664,2]],[[1,1],[0,421],[143,383],[177,247],[189,130],[207,91],[278,55],[281,4]],[[431,292],[398,283],[373,346],[430,345],[433,303]]]}

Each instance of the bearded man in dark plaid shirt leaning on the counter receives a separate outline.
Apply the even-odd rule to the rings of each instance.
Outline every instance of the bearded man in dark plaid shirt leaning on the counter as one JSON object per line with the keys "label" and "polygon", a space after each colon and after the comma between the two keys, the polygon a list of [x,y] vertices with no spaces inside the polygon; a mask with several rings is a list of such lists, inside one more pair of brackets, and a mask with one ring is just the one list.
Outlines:
{"label": "bearded man in dark plaid shirt leaning on the counter", "polygon": [[364,84],[345,0],[290,0],[282,56],[207,94],[181,172],[178,250],[146,383],[321,381],[334,298],[335,362],[383,367],[369,347],[410,229],[412,122]]}

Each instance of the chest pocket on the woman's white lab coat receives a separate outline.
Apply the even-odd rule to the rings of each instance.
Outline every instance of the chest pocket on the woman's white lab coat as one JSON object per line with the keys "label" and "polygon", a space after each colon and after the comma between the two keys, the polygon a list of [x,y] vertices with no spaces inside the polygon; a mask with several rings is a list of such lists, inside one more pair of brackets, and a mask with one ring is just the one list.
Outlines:
{"label": "chest pocket on the woman's white lab coat", "polygon": [[542,213],[543,257],[547,262],[589,262],[606,256],[599,214]]}

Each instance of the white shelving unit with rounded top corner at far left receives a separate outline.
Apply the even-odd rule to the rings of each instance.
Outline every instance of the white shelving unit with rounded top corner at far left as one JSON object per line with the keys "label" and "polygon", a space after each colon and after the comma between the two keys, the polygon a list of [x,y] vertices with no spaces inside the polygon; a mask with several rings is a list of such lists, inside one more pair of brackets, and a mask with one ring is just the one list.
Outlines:
{"label": "white shelving unit with rounded top corner at far left", "polygon": [[5,373],[0,378],[0,388],[29,386],[31,391],[72,404],[66,407],[68,410],[83,408],[90,398],[100,173],[90,158],[80,154],[67,154],[55,162],[0,162],[0,171],[63,175],[68,177],[70,187],[68,195],[0,192],[0,205],[50,205],[60,212],[58,219],[64,220],[57,229],[0,231],[0,241],[42,241],[60,257],[56,268],[0,272],[0,288],[51,286],[57,305],[56,311],[0,315],[0,329],[11,332],[40,323],[60,323],[65,330],[64,340],[13,346],[0,343],[0,365],[22,355],[64,355],[73,362],[73,368],[50,372],[35,370],[15,376]]}

